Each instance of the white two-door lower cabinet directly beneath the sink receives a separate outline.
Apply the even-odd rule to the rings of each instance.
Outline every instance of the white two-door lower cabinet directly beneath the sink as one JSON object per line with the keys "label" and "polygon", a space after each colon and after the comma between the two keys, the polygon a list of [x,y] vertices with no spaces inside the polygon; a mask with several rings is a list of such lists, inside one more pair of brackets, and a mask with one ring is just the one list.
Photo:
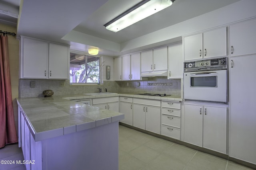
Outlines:
{"label": "white two-door lower cabinet directly beneath the sink", "polygon": [[119,112],[119,97],[92,99],[92,105]]}

